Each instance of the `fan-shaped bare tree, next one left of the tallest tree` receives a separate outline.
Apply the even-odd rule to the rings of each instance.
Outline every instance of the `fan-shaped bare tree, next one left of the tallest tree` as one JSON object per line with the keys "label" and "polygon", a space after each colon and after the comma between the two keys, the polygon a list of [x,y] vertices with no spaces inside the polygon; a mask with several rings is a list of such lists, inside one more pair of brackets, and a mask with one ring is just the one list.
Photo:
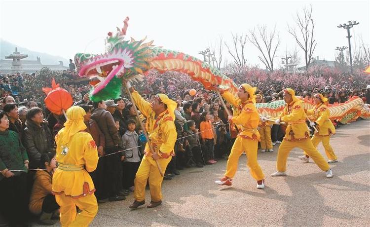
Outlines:
{"label": "fan-shaped bare tree, next one left of the tallest tree", "polygon": [[[276,50],[280,44],[280,36],[277,34],[275,37],[276,32],[276,25],[274,30],[267,35],[266,25],[257,26],[258,34],[256,34],[256,29],[249,31],[248,39],[255,45],[259,52],[261,52],[262,56],[258,56],[259,60],[265,65],[266,69],[273,72],[274,71],[274,57]],[[277,38],[275,44],[273,44],[274,39]],[[259,40],[260,39],[260,40]]]}

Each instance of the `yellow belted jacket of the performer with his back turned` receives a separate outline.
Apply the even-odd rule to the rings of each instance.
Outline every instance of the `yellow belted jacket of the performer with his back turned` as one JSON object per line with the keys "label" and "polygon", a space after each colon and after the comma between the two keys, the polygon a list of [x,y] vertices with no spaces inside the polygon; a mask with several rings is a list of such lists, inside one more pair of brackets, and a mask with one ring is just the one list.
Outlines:
{"label": "yellow belted jacket of the performer with his back turned", "polygon": [[[64,131],[62,128],[58,136]],[[92,136],[87,132],[77,132],[68,144],[67,154],[63,154],[63,147],[57,143],[58,169],[53,174],[53,194],[64,193],[67,196],[78,198],[92,194],[95,191],[94,183],[88,174],[96,169],[98,164],[98,151]],[[81,170],[63,170],[62,166],[84,166]]]}

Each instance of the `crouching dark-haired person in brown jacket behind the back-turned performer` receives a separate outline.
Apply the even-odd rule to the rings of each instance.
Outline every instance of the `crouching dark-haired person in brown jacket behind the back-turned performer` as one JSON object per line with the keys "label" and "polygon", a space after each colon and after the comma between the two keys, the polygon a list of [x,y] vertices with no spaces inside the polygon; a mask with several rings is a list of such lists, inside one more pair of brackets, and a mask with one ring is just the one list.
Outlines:
{"label": "crouching dark-haired person in brown jacket behind the back-turned performer", "polygon": [[57,168],[55,152],[41,154],[40,166],[46,170],[36,171],[35,182],[32,187],[30,204],[31,213],[39,215],[38,224],[51,226],[59,219],[59,205],[55,201],[55,195],[51,193],[52,178]]}

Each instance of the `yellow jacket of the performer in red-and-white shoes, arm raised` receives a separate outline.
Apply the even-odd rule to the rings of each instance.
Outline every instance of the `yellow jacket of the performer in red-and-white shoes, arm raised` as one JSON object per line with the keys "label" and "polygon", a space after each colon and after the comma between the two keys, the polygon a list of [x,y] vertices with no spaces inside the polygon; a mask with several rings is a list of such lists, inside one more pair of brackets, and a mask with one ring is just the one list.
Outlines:
{"label": "yellow jacket of the performer in red-and-white shoes, arm raised", "polygon": [[251,100],[244,103],[239,98],[236,98],[228,91],[222,93],[222,97],[234,106],[233,117],[230,123],[234,123],[244,138],[259,140],[260,135],[257,127],[259,125],[259,113],[255,104]]}

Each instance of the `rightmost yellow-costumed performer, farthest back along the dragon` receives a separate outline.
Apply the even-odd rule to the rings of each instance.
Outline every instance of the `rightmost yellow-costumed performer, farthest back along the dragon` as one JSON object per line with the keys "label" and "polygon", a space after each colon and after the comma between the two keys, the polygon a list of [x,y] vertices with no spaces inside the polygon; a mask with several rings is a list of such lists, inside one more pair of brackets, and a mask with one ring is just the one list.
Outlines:
{"label": "rightmost yellow-costumed performer, farthest back along the dragon", "polygon": [[[325,153],[328,156],[328,163],[337,162],[338,158],[336,157],[332,146],[330,146],[330,137],[335,134],[335,127],[333,122],[329,119],[330,112],[327,107],[328,99],[325,98],[322,94],[314,95],[315,100],[315,109],[308,110],[308,117],[312,116],[313,121],[310,123],[311,126],[316,126],[318,131],[315,131],[315,134],[311,138],[311,142],[315,148],[319,145],[320,142],[323,143]],[[299,156],[298,158],[308,162],[309,155],[305,152],[304,155]]]}

